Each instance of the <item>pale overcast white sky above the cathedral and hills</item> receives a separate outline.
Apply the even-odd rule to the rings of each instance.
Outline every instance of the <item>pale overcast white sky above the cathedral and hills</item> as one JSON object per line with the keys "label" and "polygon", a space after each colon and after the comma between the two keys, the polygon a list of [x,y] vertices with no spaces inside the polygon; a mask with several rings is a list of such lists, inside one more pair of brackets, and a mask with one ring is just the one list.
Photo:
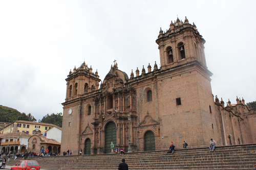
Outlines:
{"label": "pale overcast white sky above the cathedral and hills", "polygon": [[178,17],[206,40],[212,93],[256,101],[256,1],[0,1],[0,105],[38,120],[63,112],[70,69],[84,61],[103,81],[111,64],[156,61],[155,40]]}

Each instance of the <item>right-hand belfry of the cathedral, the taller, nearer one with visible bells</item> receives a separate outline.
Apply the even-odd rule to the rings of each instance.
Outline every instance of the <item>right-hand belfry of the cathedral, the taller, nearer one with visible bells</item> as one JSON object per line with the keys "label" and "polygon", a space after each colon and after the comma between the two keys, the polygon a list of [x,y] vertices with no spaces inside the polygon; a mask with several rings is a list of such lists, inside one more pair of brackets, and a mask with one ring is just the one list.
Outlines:
{"label": "right-hand belfry of the cathedral, the taller, nearer one with visible bells", "polygon": [[171,21],[166,32],[160,28],[156,43],[159,45],[162,69],[193,60],[199,61],[203,67],[207,68],[204,55],[205,40],[197,31],[195,23],[191,25],[186,17],[184,22],[179,18],[174,23]]}

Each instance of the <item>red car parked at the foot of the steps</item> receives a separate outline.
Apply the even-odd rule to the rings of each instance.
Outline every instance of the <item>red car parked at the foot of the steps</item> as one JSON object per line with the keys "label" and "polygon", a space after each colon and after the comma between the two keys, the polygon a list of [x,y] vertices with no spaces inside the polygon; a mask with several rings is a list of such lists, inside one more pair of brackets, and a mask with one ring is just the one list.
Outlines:
{"label": "red car parked at the foot of the steps", "polygon": [[33,160],[22,160],[11,167],[11,170],[40,170],[40,166],[37,161]]}

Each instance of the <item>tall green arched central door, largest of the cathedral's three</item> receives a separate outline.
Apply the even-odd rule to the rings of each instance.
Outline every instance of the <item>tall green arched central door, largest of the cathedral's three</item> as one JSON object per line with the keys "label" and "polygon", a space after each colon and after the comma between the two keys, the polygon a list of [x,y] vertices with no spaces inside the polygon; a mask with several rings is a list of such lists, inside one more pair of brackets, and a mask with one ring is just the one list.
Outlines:
{"label": "tall green arched central door, largest of the cathedral's three", "polygon": [[108,125],[106,125],[105,154],[111,153],[111,142],[113,142],[114,147],[116,147],[116,124],[114,122],[110,122]]}

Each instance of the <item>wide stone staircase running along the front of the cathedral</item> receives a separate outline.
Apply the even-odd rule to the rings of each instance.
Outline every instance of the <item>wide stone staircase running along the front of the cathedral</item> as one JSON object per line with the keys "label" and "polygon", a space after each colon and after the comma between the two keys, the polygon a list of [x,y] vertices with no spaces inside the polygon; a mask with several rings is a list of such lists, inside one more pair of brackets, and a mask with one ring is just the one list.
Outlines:
{"label": "wide stone staircase running along the front of the cathedral", "polygon": [[[129,169],[253,169],[256,160],[256,143],[217,147],[210,152],[207,148],[166,151],[136,152],[99,155],[72,155],[52,157],[30,157],[41,169],[118,169],[124,158]],[[14,165],[20,159],[7,165]]]}

